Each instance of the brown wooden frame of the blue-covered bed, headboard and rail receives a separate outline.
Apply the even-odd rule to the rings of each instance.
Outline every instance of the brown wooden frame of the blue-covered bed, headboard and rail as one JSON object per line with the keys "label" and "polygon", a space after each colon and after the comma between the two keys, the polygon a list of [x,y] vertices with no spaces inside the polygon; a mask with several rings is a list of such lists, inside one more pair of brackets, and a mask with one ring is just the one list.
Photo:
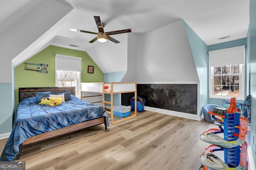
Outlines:
{"label": "brown wooden frame of the blue-covered bed, headboard and rail", "polygon": [[[76,94],[76,88],[75,87],[19,88],[19,102],[22,101],[25,98],[36,96],[36,92],[45,92],[45,91],[51,91],[51,94],[58,94],[58,93],[64,93],[64,92],[70,92],[73,95]],[[39,141],[44,141],[46,139],[58,137],[58,136],[65,135],[65,134],[69,134],[69,138],[70,138],[71,137],[70,133],[72,133],[72,132],[79,131],[79,130],[82,130],[86,127],[91,127],[91,126],[94,126],[94,125],[100,125],[102,123],[104,123],[105,130],[107,130],[106,118],[103,116],[103,117],[90,119],[90,120],[87,120],[87,121],[84,121],[84,122],[81,122],[81,123],[77,123],[77,124],[74,124],[74,125],[63,127],[61,129],[57,129],[57,130],[50,131],[50,132],[47,132],[47,133],[42,133],[40,135],[36,135],[34,137],[28,138],[22,144],[19,145],[19,152],[16,155],[16,160],[20,159],[20,155],[21,155],[21,152],[22,152],[22,147],[25,146],[25,145],[29,145],[29,144],[39,142]]]}

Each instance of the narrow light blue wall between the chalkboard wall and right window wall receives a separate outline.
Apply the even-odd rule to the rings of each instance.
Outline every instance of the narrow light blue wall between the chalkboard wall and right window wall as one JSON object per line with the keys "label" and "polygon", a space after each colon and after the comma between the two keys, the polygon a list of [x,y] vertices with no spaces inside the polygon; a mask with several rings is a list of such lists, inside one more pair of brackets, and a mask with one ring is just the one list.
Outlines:
{"label": "narrow light blue wall between the chalkboard wall and right window wall", "polygon": [[202,115],[202,105],[208,104],[208,55],[207,55],[207,45],[202,41],[200,37],[188,26],[184,21],[186,33],[188,36],[188,41],[196,64],[196,70],[199,77],[199,112]]}

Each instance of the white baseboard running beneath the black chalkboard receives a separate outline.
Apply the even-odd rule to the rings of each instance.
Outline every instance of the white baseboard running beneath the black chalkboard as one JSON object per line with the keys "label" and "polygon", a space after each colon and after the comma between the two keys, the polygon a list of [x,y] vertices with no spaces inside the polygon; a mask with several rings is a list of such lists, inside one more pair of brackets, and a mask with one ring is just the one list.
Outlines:
{"label": "white baseboard running beneath the black chalkboard", "polygon": [[199,115],[194,115],[194,114],[190,114],[190,113],[183,113],[183,112],[178,112],[178,111],[159,109],[159,108],[155,108],[155,107],[144,106],[144,109],[148,110],[148,111],[154,111],[157,113],[163,113],[166,115],[184,117],[187,119],[193,119],[193,120],[198,120],[198,121],[201,121],[204,118],[204,115],[199,116]]}

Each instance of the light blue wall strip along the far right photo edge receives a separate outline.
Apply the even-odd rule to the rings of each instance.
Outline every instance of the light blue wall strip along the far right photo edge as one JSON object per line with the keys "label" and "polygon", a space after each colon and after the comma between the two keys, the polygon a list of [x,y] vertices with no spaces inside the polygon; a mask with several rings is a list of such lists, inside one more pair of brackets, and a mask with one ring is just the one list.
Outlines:
{"label": "light blue wall strip along the far right photo edge", "polygon": [[[250,25],[248,30],[248,51],[250,51],[250,94],[251,94],[251,133],[250,142],[254,164],[256,165],[256,1],[250,0]],[[253,139],[254,138],[254,139]],[[253,143],[254,141],[254,143]]]}

